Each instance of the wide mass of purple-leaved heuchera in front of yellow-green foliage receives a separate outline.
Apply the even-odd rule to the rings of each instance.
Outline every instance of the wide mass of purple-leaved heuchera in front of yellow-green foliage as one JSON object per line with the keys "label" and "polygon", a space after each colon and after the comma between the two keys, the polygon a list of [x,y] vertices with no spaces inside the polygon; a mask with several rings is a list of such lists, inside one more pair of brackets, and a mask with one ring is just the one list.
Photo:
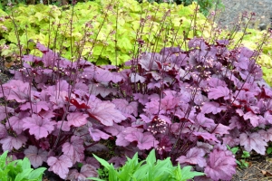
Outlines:
{"label": "wide mass of purple-leaved heuchera in front of yellow-green foliage", "polygon": [[43,57],[25,55],[24,68],[1,84],[3,150],[17,150],[14,157],[33,167],[46,163],[63,179],[83,179],[99,167],[85,153],[110,138],[121,156],[110,160],[115,167],[156,148],[160,159],[230,180],[236,159],[226,144],[264,155],[272,140],[272,90],[258,52],[228,50],[228,40],[194,38],[188,46],[144,52],[120,69],[69,62],[37,43]]}

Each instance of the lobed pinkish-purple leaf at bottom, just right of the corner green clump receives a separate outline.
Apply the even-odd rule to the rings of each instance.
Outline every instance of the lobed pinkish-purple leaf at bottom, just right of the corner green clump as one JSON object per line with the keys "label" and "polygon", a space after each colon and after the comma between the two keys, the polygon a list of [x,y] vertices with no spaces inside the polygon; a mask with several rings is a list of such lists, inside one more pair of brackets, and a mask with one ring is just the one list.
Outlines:
{"label": "lobed pinkish-purple leaf at bottom, just right of the corner green clump", "polygon": [[53,171],[53,173],[59,175],[61,178],[65,179],[69,172],[69,167],[73,166],[73,162],[68,156],[61,157],[48,157],[47,164],[49,167],[49,171]]}

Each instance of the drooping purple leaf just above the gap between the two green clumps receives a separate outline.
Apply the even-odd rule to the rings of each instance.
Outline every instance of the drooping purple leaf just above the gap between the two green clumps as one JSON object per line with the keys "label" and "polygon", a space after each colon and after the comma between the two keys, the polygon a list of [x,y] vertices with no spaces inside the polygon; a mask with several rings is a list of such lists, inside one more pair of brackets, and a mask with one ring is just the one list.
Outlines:
{"label": "drooping purple leaf just above the gap between the two green clumps", "polygon": [[65,142],[62,146],[63,154],[70,157],[73,164],[82,162],[84,158],[83,139],[77,136],[71,138],[71,142]]}

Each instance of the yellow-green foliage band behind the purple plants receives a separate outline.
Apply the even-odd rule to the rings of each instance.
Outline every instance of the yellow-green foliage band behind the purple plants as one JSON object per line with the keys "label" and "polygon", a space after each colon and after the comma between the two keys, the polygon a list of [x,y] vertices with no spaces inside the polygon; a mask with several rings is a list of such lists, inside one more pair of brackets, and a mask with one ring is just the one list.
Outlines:
{"label": "yellow-green foliage band behind the purple plants", "polygon": [[[254,50],[263,37],[257,30],[248,30],[248,22],[240,21],[230,32],[216,29],[215,24],[198,13],[196,4],[184,7],[166,3],[138,4],[136,1],[96,0],[72,6],[19,5],[0,11],[1,55],[20,60],[22,54],[34,53],[34,43],[40,42],[74,61],[76,53],[96,64],[121,65],[138,50],[159,52],[164,46],[186,50],[184,38],[194,36],[222,39],[231,34],[231,43],[242,43]],[[251,17],[243,14],[242,19]],[[90,21],[92,20],[92,21]],[[72,21],[73,24],[70,24]],[[245,25],[243,25],[245,24]],[[238,33],[238,29],[242,32]],[[87,34],[88,33],[88,34]],[[20,43],[18,42],[20,40]],[[141,46],[137,43],[141,40]],[[18,44],[19,43],[19,44]],[[82,50],[76,47],[84,44]],[[263,47],[258,64],[264,77],[272,83],[269,41]],[[19,48],[21,47],[21,48]],[[18,54],[21,54],[18,56]]]}

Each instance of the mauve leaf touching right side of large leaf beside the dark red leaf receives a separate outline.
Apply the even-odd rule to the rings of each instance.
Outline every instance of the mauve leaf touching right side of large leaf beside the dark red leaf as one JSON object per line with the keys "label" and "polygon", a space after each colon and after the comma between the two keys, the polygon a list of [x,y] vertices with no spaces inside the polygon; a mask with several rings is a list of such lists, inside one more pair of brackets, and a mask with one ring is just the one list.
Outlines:
{"label": "mauve leaf touching right side of large leaf beside the dark red leaf", "polygon": [[132,114],[138,116],[138,103],[135,101],[128,102],[127,100],[114,99],[112,103],[115,104],[117,110],[121,110],[122,113]]}

